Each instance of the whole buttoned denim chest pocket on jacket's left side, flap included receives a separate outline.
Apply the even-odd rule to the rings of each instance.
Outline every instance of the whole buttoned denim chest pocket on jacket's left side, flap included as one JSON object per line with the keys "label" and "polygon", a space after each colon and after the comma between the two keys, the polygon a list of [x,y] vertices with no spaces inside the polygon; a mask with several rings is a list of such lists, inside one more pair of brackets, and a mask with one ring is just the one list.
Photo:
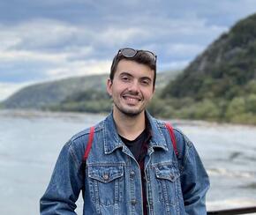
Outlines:
{"label": "whole buttoned denim chest pocket on jacket's left side, flap included", "polygon": [[94,165],[88,167],[90,196],[95,204],[112,205],[122,200],[124,167]]}

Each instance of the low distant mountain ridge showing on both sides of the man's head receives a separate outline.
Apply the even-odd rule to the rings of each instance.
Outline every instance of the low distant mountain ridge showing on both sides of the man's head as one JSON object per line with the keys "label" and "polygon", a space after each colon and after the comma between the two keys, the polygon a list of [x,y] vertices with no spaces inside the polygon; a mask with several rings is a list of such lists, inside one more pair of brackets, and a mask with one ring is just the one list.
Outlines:
{"label": "low distant mountain ridge showing on both sides of the man's head", "polygon": [[[162,88],[179,71],[159,72],[156,87]],[[108,109],[104,105],[108,74],[65,78],[41,84],[29,85],[14,93],[2,106],[5,108],[54,109],[97,112]],[[102,100],[102,103],[100,102]],[[90,101],[90,102],[88,102]],[[97,106],[97,107],[96,107]]]}

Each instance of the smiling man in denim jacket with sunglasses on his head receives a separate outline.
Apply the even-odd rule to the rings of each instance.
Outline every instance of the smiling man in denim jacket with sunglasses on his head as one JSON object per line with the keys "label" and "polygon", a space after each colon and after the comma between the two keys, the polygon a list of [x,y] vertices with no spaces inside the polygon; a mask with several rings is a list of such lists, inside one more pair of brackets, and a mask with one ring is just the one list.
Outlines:
{"label": "smiling man in denim jacket with sunglasses on his head", "polygon": [[166,124],[146,110],[155,78],[154,53],[118,51],[107,83],[113,110],[64,145],[41,197],[41,215],[75,214],[80,190],[88,215],[207,214],[209,181],[192,142],[179,130],[171,140]]}

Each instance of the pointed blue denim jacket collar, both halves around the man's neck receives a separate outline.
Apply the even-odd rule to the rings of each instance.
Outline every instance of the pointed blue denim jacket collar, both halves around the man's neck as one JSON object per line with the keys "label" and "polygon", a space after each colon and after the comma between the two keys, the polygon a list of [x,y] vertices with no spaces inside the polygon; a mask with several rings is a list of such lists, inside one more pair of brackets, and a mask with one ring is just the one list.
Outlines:
{"label": "pointed blue denim jacket collar, both halves around the man's neck", "polygon": [[[157,122],[149,113],[146,111],[147,120],[152,132],[152,138],[149,142],[149,150],[154,148],[162,148],[168,150],[166,140],[162,134],[161,124]],[[103,122],[103,142],[104,152],[109,154],[114,152],[117,148],[123,148],[124,143],[118,136],[117,127],[114,122],[113,112],[111,112]]]}

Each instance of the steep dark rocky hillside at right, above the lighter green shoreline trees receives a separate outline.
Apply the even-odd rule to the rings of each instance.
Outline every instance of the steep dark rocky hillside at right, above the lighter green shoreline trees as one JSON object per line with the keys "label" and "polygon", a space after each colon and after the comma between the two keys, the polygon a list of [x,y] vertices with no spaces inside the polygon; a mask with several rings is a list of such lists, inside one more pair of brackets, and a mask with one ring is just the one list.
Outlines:
{"label": "steep dark rocky hillside at right, above the lighter green shoreline trees", "polygon": [[255,26],[256,14],[237,22],[169,83],[162,94],[196,100],[232,100],[251,91],[256,85]]}

